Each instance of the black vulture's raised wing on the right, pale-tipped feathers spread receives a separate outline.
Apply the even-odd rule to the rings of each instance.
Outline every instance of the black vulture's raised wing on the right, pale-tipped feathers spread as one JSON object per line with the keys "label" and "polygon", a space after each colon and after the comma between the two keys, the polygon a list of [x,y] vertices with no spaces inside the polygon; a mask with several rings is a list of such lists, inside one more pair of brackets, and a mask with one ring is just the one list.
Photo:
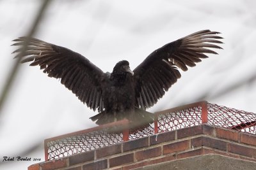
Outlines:
{"label": "black vulture's raised wing on the right, pale-tipped feathers spread", "polygon": [[214,53],[209,48],[221,48],[220,32],[198,31],[177,41],[168,43],[152,52],[134,69],[136,104],[142,109],[153,106],[180,78],[178,67],[183,71],[196,66],[196,62],[207,58],[205,53]]}

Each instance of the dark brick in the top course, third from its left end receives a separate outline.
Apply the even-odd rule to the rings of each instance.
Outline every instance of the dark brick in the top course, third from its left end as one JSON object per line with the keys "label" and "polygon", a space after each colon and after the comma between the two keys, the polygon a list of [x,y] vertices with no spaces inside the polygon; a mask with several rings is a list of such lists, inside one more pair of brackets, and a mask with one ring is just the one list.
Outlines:
{"label": "dark brick in the top course, third from its left end", "polygon": [[77,153],[76,155],[72,155],[71,157],[69,157],[69,164],[70,166],[72,166],[72,165],[80,164],[93,159],[94,159],[94,151]]}

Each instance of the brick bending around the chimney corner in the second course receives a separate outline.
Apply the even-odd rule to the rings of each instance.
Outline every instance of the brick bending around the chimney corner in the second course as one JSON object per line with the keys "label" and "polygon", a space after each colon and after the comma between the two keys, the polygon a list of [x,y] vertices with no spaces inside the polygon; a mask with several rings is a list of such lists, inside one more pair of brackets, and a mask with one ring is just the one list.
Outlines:
{"label": "brick bending around the chimney corner in the second course", "polygon": [[207,138],[205,136],[191,139],[191,147],[209,146],[219,150],[227,150],[227,142],[218,139]]}

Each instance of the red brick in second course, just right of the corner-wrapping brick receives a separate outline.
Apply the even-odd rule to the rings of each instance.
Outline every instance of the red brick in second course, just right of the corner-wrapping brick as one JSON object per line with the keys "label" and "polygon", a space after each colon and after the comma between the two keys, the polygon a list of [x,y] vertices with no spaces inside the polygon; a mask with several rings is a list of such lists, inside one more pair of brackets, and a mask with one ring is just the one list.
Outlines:
{"label": "red brick in second course, just right of the corner-wrapping brick", "polygon": [[248,148],[246,146],[236,145],[233,143],[228,143],[228,152],[237,153],[246,157],[253,156],[253,148]]}

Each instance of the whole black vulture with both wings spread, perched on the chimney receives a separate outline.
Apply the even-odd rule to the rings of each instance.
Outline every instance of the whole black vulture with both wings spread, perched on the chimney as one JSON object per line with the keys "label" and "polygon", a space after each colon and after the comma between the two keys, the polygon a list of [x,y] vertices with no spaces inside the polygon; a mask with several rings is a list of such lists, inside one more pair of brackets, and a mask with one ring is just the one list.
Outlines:
{"label": "whole black vulture with both wings spread, perched on the chimney", "polygon": [[[179,69],[188,70],[196,62],[214,53],[209,48],[221,48],[220,32],[198,31],[154,52],[131,71],[129,62],[121,60],[112,73],[104,73],[83,55],[68,48],[30,38],[28,48],[22,52],[26,37],[13,41],[20,46],[13,53],[21,62],[40,66],[49,77],[61,80],[80,101],[99,114],[91,117],[102,125],[127,118],[131,124],[148,125],[154,121],[152,113],[145,111],[164,96],[164,93],[180,78]],[[179,68],[179,69],[178,69]]]}

